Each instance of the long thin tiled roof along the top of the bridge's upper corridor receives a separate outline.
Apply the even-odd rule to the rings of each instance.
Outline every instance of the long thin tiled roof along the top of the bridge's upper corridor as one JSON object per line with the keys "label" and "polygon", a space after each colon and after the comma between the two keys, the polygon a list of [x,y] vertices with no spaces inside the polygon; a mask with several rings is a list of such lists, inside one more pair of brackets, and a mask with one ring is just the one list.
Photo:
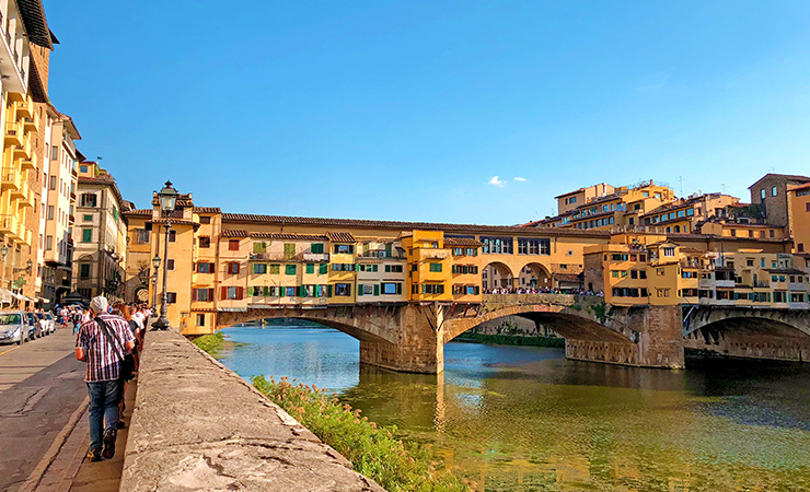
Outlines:
{"label": "long thin tiled roof along the top of the bridge's upper corridor", "polygon": [[[246,213],[223,213],[223,221],[230,222],[263,222],[263,223],[275,223],[281,225],[301,224],[301,225],[326,225],[326,226],[338,226],[338,227],[369,227],[369,229],[393,229],[397,231],[471,231],[479,233],[508,233],[508,234],[520,234],[520,233],[536,233],[539,227],[521,227],[516,225],[478,225],[478,224],[449,224],[449,223],[435,223],[435,222],[397,222],[397,221],[372,221],[372,220],[358,220],[358,219],[326,219],[326,218],[311,218],[311,216],[285,216],[285,215],[256,215]],[[546,227],[544,233],[546,232]],[[548,234],[553,235],[579,235],[579,236],[594,236],[594,237],[608,237],[610,233],[606,231],[586,231],[586,230],[564,230],[559,231],[556,227],[547,227]]]}

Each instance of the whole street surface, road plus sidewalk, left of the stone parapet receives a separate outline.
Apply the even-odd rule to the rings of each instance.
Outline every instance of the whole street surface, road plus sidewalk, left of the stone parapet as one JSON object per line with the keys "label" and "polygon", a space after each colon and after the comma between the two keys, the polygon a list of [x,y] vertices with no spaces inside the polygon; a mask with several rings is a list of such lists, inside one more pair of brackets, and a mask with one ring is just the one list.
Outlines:
{"label": "whole street surface, road plus sidewalk, left of the stone parapet", "polygon": [[[84,461],[90,445],[84,363],[70,328],[23,345],[0,345],[0,491],[117,491],[127,429],[116,457]],[[131,412],[137,384],[127,388]],[[128,400],[128,401],[127,401]]]}

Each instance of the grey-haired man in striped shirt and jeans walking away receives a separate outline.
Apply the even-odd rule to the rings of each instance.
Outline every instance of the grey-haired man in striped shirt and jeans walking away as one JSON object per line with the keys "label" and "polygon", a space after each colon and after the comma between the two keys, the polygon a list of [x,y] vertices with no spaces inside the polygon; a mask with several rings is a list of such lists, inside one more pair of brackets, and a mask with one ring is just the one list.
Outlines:
{"label": "grey-haired man in striped shirt and jeans walking away", "polygon": [[103,295],[90,302],[90,320],[81,325],[76,338],[76,359],[86,362],[84,380],[90,394],[88,458],[101,461],[102,456],[107,459],[115,456],[123,384],[120,365],[124,354],[132,350],[135,339],[124,318],[107,314],[107,298]]}

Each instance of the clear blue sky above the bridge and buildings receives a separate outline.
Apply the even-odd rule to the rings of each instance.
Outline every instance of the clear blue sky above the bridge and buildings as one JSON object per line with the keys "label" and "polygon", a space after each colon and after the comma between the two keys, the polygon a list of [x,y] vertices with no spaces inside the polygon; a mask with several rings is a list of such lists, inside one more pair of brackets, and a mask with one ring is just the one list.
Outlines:
{"label": "clear blue sky above the bridge and buildings", "polygon": [[171,178],[231,212],[513,224],[594,183],[810,174],[807,1],[45,8],[51,101],[138,207]]}

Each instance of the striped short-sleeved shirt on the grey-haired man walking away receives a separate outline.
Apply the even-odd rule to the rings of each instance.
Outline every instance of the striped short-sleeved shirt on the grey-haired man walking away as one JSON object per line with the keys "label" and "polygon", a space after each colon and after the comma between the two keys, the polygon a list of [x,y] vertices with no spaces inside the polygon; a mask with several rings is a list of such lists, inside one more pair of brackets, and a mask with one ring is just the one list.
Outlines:
{"label": "striped short-sleeved shirt on the grey-haired man walking away", "polygon": [[[121,354],[127,353],[124,347],[126,342],[134,341],[132,331],[129,324],[120,316],[111,314],[101,314],[100,318],[107,325],[107,331],[116,338],[113,340]],[[84,380],[94,383],[100,380],[114,380],[118,378],[120,359],[117,353],[109,347],[109,342],[104,336],[99,324],[93,319],[84,321],[79,328],[79,335],[76,337],[76,348],[82,349],[86,354],[86,370]]]}

